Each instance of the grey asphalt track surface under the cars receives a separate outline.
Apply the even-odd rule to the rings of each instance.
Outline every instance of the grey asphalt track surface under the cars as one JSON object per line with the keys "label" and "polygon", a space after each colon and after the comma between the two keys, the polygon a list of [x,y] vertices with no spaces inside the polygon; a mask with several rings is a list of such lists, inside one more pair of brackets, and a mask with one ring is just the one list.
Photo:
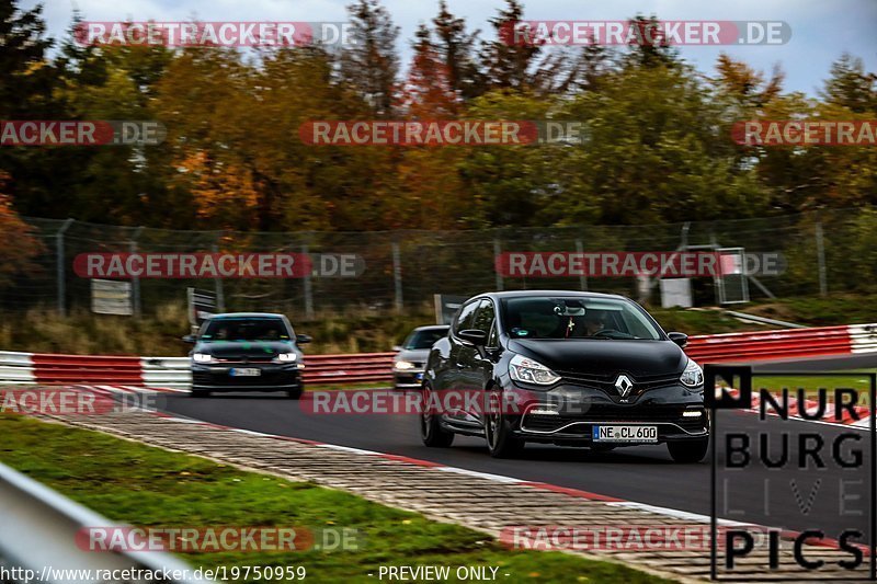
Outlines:
{"label": "grey asphalt track surface under the cars", "polygon": [[[827,371],[875,367],[877,355],[772,363],[759,365],[756,370]],[[303,399],[308,399],[307,393]],[[428,448],[420,442],[418,421],[413,415],[312,414],[304,411],[307,408],[303,408],[303,402],[271,393],[200,399],[168,396],[160,400],[159,408],[226,426],[401,455],[673,509],[710,513],[711,461],[674,463],[663,445],[592,453],[585,448],[531,444],[520,458],[503,460],[491,458],[480,438],[457,436],[451,448]],[[729,470],[725,468],[725,438],[721,438],[717,443],[719,516],[798,531],[819,527],[832,538],[847,528],[868,534],[874,480],[869,472],[872,453],[867,428],[782,421],[771,416],[761,421],[755,414],[739,411],[720,412],[718,428],[720,436],[731,432],[745,433],[754,443],[758,443],[760,434],[765,434],[774,456],[781,453],[782,435],[787,434],[790,454],[790,467],[781,470],[767,469],[761,462],[743,470]],[[800,454],[797,440],[801,433],[819,434],[824,440],[825,446],[821,449],[824,469],[812,468],[812,458],[809,459],[811,468],[795,468]],[[863,461],[856,469],[841,469],[832,459],[831,447],[843,434],[861,436],[861,442],[845,442],[841,448],[844,456],[853,448],[862,450]],[[756,447],[753,455],[755,453]],[[851,499],[856,496],[858,499]]]}

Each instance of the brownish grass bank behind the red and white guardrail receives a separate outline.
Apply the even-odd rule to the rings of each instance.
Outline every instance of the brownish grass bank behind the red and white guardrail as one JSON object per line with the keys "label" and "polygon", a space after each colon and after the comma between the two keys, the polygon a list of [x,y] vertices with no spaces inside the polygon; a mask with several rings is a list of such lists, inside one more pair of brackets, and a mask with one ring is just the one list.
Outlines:
{"label": "brownish grass bank behind the red and white guardrail", "polygon": [[[784,298],[733,308],[761,317],[823,327],[872,322],[875,302],[877,295],[833,295]],[[720,310],[648,308],[665,331],[717,334],[770,328],[741,322]],[[304,347],[311,354],[390,351],[411,329],[432,324],[435,319],[432,307],[426,305],[409,307],[405,313],[361,307],[318,312],[311,319],[298,313],[287,316],[297,332],[314,337],[314,343]],[[181,302],[147,307],[144,316],[137,319],[93,314],[83,309],[72,310],[61,318],[52,308],[2,317],[0,350],[4,351],[182,356],[191,348],[180,340],[189,332],[185,306]]]}

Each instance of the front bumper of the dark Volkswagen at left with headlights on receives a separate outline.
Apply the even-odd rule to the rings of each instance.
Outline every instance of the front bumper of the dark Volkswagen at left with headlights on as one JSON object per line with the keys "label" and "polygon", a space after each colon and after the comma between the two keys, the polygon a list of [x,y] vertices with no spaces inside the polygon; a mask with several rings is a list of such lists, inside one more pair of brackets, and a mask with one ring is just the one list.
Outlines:
{"label": "front bumper of the dark Volkswagen at left with headlights on", "polygon": [[[232,376],[231,369],[259,369],[258,376]],[[301,388],[296,363],[192,364],[192,389],[209,391],[276,391]]]}

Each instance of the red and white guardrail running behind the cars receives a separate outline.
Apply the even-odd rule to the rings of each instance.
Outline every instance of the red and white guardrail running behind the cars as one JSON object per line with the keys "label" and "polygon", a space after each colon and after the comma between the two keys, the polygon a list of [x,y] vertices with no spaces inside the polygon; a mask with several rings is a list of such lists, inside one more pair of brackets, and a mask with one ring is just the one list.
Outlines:
{"label": "red and white guardrail running behind the cars", "polygon": [[[698,363],[750,362],[877,352],[877,323],[688,337]],[[392,378],[394,353],[307,355],[305,383],[367,383]],[[187,357],[112,357],[0,352],[0,382],[130,383],[189,388]]]}

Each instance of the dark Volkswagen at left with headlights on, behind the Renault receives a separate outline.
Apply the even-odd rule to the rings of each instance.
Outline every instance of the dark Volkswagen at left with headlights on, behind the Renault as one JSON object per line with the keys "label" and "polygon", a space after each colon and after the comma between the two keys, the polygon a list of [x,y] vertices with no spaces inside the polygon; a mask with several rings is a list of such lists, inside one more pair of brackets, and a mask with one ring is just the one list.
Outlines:
{"label": "dark Volkswagen at left with headlights on, behind the Renault", "polygon": [[299,344],[283,314],[234,312],[214,314],[202,323],[189,354],[192,359],[192,396],[214,391],[285,391],[298,399],[304,391]]}

